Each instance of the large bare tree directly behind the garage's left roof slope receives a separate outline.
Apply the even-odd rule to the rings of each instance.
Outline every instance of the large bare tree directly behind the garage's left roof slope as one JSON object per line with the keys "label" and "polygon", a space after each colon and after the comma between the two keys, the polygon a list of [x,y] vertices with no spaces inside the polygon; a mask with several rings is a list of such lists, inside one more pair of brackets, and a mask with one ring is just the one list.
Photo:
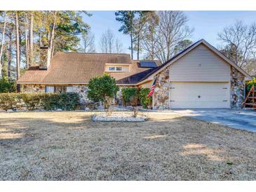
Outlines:
{"label": "large bare tree directly behind the garage's left roof slope", "polygon": [[166,62],[174,55],[175,46],[191,36],[187,16],[182,11],[158,11],[159,23],[148,30],[142,39],[142,47],[150,59]]}

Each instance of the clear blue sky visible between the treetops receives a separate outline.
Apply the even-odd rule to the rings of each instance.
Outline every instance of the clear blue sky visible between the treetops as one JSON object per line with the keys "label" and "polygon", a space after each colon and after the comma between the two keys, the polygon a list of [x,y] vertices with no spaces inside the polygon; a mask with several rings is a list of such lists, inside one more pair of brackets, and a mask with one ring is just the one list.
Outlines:
{"label": "clear blue sky visible between the treetops", "polygon": [[[115,20],[114,11],[89,11],[89,13],[93,15],[91,17],[84,16],[83,20],[90,25],[92,32],[95,34],[97,51],[99,50],[98,42],[102,32],[110,28],[116,37],[122,41],[123,47],[126,48],[125,52],[130,53],[130,50],[128,50],[130,45],[129,36],[119,32],[121,23]],[[220,45],[220,41],[217,41],[217,33],[224,27],[231,25],[236,20],[243,20],[249,25],[256,22],[256,11],[184,11],[184,13],[189,19],[187,25],[194,28],[191,40],[206,39],[216,47]]]}

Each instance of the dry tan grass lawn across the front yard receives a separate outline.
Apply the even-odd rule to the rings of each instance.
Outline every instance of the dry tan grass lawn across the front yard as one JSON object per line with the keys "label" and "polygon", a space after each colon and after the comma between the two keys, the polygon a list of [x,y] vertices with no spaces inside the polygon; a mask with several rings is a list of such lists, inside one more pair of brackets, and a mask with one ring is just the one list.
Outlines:
{"label": "dry tan grass lawn across the front yard", "polygon": [[256,134],[174,114],[1,113],[1,180],[255,180]]}

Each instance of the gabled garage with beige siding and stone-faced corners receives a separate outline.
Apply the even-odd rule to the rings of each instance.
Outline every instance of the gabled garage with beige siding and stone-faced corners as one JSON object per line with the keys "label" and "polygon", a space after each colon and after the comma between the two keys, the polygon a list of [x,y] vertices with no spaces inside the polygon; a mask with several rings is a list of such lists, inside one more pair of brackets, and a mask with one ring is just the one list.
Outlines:
{"label": "gabled garage with beige siding and stone-faced corners", "polygon": [[[205,40],[149,74],[155,80],[153,109],[241,108],[252,79]],[[145,80],[146,81],[146,80]]]}

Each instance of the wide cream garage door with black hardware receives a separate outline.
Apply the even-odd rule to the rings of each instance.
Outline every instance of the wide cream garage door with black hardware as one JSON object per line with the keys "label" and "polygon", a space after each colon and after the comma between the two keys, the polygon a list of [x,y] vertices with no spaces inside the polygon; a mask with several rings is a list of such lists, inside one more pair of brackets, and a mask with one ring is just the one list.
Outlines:
{"label": "wide cream garage door with black hardware", "polygon": [[229,108],[229,83],[170,83],[170,108]]}

